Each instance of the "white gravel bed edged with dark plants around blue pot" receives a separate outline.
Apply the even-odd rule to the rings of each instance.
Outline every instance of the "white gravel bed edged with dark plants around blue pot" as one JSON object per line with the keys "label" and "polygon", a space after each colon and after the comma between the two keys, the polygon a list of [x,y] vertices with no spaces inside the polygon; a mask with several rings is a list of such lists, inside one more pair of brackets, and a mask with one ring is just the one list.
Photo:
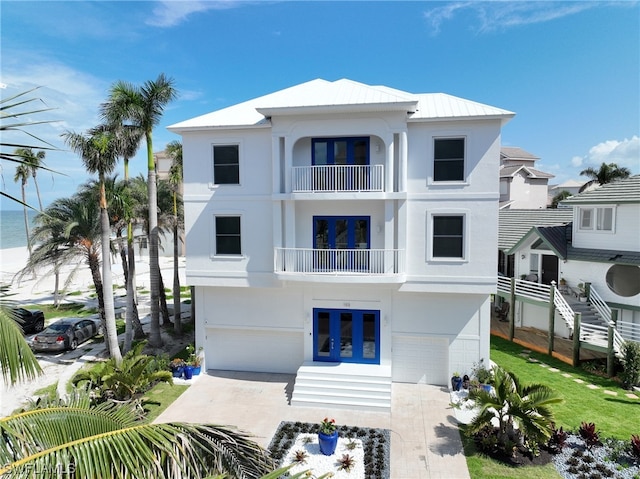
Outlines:
{"label": "white gravel bed edged with dark plants around blue pot", "polygon": [[[336,450],[332,456],[324,456],[319,452],[317,442],[313,436],[317,435],[318,424],[303,422],[283,421],[276,429],[273,439],[269,443],[268,450],[271,457],[281,466],[291,463],[290,451],[292,448],[306,452],[304,469],[312,469],[315,465],[322,470],[314,471],[324,474],[331,472],[334,478],[340,477],[338,474],[344,473],[344,477],[353,479],[389,479],[390,478],[390,449],[391,436],[388,429],[375,429],[357,426],[338,426],[337,430],[343,440],[343,449]],[[296,440],[302,436],[297,443]],[[308,438],[308,439],[305,439]],[[297,444],[297,445],[296,445]],[[352,444],[353,446],[349,446]],[[352,451],[349,448],[352,447]],[[357,451],[356,449],[360,449]],[[287,455],[289,456],[287,457]],[[295,455],[295,451],[293,451]],[[351,472],[339,470],[339,461],[344,454],[349,454],[356,458]],[[359,459],[362,458],[362,459]],[[358,464],[358,461],[362,464]],[[324,469],[329,467],[330,469]],[[358,473],[358,474],[356,474]]]}

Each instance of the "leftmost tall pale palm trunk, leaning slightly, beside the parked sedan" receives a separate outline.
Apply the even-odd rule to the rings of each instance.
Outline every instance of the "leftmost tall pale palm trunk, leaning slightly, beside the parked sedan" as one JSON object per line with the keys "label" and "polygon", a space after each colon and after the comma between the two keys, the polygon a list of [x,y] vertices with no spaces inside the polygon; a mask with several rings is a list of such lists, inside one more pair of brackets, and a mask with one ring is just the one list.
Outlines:
{"label": "leftmost tall pale palm trunk, leaning slightly, beside the parked sedan", "polygon": [[[102,176],[102,175],[101,175]],[[102,288],[104,292],[105,342],[108,344],[109,354],[116,364],[122,362],[122,353],[118,345],[116,329],[116,312],[113,303],[113,275],[111,274],[111,225],[107,211],[104,178],[100,178],[100,228],[102,233]]]}

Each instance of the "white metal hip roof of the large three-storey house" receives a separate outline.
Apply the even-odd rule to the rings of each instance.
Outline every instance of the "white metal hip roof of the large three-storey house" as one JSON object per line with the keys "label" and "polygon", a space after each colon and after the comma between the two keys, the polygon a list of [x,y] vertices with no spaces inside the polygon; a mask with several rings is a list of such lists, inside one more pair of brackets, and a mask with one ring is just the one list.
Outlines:
{"label": "white metal hip roof of the large three-storey house", "polygon": [[348,79],[334,82],[316,79],[176,123],[169,130],[260,127],[268,126],[269,117],[276,114],[363,111],[402,111],[411,121],[497,118],[506,122],[515,115],[444,93],[416,95]]}

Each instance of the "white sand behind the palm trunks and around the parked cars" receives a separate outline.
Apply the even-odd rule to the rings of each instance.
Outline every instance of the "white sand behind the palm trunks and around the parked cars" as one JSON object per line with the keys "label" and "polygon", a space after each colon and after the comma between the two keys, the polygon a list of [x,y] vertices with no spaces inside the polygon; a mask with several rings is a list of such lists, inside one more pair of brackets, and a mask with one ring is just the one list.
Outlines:
{"label": "white sand behind the palm trunks and around the parked cars", "polygon": [[[15,275],[20,271],[27,262],[29,252],[26,247],[10,248],[0,250],[0,284],[9,286],[5,299],[13,301],[17,305],[38,305],[53,303],[53,292],[55,279],[52,274],[46,274],[46,271],[36,271],[35,277],[32,275],[25,276],[22,280],[15,279]],[[113,262],[115,261],[115,262]],[[171,287],[173,279],[173,257],[161,256],[160,269],[162,277],[167,287]],[[124,286],[124,274],[120,258],[112,257],[112,273],[114,288],[116,286]],[[180,267],[180,284],[185,284],[184,275],[184,257],[179,260]],[[60,287],[69,278],[69,274],[73,270],[73,266],[65,266],[60,274]],[[136,284],[140,288],[148,288],[149,285],[149,258],[137,258],[136,261]],[[114,291],[116,295],[116,310],[124,308],[126,297],[123,288]],[[91,295],[93,293],[93,281],[89,267],[81,264],[72,280],[66,288],[67,296],[63,297],[63,301],[68,302],[86,302],[88,304],[97,305]],[[71,294],[73,293],[73,294]],[[78,294],[79,293],[79,294]],[[149,322],[148,305],[143,295],[139,297],[138,310],[140,321],[143,326]],[[146,326],[145,326],[146,327]],[[175,340],[175,347],[186,345],[185,340]],[[182,344],[185,343],[185,344]],[[100,357],[104,351],[102,344],[95,345],[86,343],[78,347],[76,351],[67,353],[39,354],[38,359],[43,369],[43,374],[38,378],[27,381],[13,387],[5,387],[3,381],[0,381],[0,417],[11,414],[14,410],[28,401],[35,391],[46,386],[58,382],[58,393],[65,394],[65,385],[71,379],[73,374],[85,365],[87,362]]]}

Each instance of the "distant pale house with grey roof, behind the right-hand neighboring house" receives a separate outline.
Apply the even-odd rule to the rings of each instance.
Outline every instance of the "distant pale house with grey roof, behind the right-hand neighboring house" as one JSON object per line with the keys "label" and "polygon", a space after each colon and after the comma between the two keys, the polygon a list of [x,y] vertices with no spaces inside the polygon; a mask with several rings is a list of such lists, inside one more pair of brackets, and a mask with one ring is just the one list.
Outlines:
{"label": "distant pale house with grey roof, behind the right-hand neighboring house", "polygon": [[540,158],[518,147],[500,149],[500,209],[547,207],[548,182],[553,175],[535,169]]}

